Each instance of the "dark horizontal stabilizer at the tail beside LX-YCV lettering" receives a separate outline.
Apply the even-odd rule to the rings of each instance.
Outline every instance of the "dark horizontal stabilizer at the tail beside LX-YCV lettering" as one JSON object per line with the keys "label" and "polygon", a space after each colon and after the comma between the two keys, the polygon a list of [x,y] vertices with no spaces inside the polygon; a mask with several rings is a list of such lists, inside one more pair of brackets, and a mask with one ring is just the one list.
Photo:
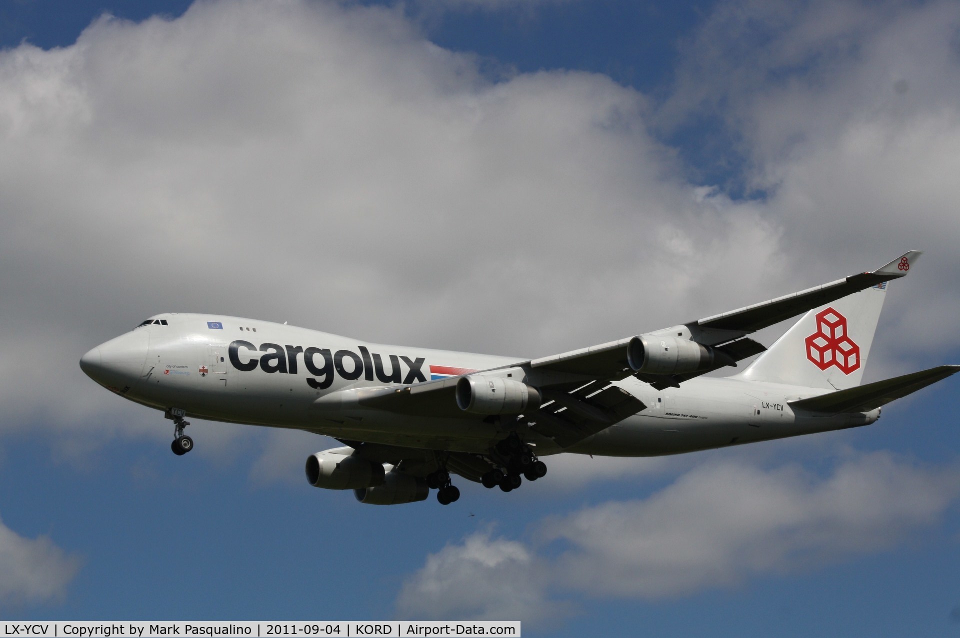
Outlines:
{"label": "dark horizontal stabilizer at the tail beside LX-YCV lettering", "polygon": [[920,372],[904,374],[893,379],[884,379],[866,386],[857,386],[847,390],[828,392],[808,399],[790,401],[791,408],[800,408],[810,412],[841,413],[869,412],[895,399],[926,388],[954,372],[960,372],[960,366],[937,366]]}

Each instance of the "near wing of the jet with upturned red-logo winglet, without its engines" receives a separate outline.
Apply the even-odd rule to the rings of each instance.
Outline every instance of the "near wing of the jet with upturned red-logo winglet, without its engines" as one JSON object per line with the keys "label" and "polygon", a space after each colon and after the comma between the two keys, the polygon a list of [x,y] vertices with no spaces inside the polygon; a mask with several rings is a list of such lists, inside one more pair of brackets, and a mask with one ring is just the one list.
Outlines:
{"label": "near wing of the jet with upturned red-logo winglet, without its engines", "polygon": [[[539,389],[542,398],[539,407],[529,406],[525,410],[526,414],[497,416],[516,418],[517,421],[530,424],[540,435],[552,438],[561,447],[568,447],[646,408],[626,390],[611,385],[612,380],[635,375],[654,388],[662,389],[679,386],[686,379],[721,366],[735,366],[737,361],[765,349],[760,343],[744,335],[834,299],[870,288],[879,282],[901,277],[909,271],[910,264],[916,263],[920,254],[920,251],[911,250],[873,272],[860,272],[793,295],[781,296],[648,335],[601,343],[471,374],[512,376],[517,381],[522,380],[523,383]],[[709,363],[681,373],[667,374],[638,369],[632,357],[636,354],[637,340],[643,338],[650,338],[650,344],[644,347],[652,348],[655,347],[654,342],[673,340],[674,343],[682,341],[688,347],[701,348]],[[664,346],[664,349],[667,348]],[[486,418],[484,414],[469,413],[458,407],[456,388],[461,378],[449,377],[401,387],[340,390],[317,399],[314,405],[318,409],[354,406],[429,417]],[[920,387],[923,386],[917,388]]]}

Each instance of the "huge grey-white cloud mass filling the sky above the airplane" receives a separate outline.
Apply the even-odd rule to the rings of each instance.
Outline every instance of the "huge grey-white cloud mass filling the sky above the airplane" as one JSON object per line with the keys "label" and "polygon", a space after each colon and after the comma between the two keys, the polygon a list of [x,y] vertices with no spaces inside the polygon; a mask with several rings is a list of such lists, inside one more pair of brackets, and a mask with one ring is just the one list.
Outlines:
{"label": "huge grey-white cloud mass filling the sky above the airplane", "polygon": [[[960,301],[942,291],[960,275],[960,83],[935,82],[960,67],[953,5],[838,7],[781,20],[721,6],[660,109],[731,96],[768,201],[684,180],[636,91],[587,73],[484,77],[399,9],[199,3],[0,52],[0,295],[17,337],[0,361],[2,429],[45,425],[78,453],[167,437],[158,413],[76,365],[165,310],[540,356],[919,247],[919,272],[891,287],[898,343],[878,335],[874,360],[955,345],[944,318]],[[734,46],[756,15],[782,35],[770,55]],[[814,55],[823,42],[830,55]],[[748,53],[756,73],[736,63]],[[804,72],[766,82],[786,67]]]}

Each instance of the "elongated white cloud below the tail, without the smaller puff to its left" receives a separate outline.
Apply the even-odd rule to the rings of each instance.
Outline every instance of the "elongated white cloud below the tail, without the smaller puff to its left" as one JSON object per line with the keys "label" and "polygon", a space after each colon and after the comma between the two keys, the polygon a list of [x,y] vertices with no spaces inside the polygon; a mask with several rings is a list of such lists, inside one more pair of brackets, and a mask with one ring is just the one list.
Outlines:
{"label": "elongated white cloud below the tail, without the smaller puff to its left", "polygon": [[888,549],[934,523],[960,494],[960,470],[877,453],[827,480],[799,466],[720,462],[643,501],[587,508],[543,526],[573,547],[558,569],[578,589],[676,596]]}

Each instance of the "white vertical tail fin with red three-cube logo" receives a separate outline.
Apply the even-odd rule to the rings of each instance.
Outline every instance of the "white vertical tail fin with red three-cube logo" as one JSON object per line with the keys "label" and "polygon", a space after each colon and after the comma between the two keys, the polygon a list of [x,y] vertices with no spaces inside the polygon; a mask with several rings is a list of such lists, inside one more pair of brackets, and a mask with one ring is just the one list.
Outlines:
{"label": "white vertical tail fin with red three-cube logo", "polygon": [[883,282],[811,310],[736,377],[828,390],[859,386],[886,288]]}

